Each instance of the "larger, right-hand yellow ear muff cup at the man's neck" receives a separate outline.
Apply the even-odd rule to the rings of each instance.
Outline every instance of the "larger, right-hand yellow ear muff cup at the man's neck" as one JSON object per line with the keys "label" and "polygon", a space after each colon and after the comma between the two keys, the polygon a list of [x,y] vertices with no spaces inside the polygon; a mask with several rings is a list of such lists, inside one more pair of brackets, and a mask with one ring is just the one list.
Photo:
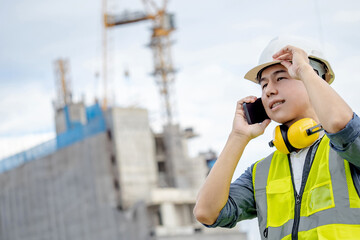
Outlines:
{"label": "larger, right-hand yellow ear muff cup at the man's neck", "polygon": [[307,135],[306,130],[314,127],[316,122],[311,118],[303,118],[292,124],[287,131],[288,141],[298,149],[306,148],[313,144],[319,137],[319,133]]}

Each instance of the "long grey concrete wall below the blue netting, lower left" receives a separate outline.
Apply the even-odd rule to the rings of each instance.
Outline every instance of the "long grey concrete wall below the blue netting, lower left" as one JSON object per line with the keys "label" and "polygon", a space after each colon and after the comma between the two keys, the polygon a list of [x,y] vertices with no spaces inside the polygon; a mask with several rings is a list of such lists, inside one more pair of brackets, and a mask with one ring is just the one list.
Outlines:
{"label": "long grey concrete wall below the blue netting, lower left", "polygon": [[146,207],[116,208],[106,133],[0,175],[1,240],[145,240]]}

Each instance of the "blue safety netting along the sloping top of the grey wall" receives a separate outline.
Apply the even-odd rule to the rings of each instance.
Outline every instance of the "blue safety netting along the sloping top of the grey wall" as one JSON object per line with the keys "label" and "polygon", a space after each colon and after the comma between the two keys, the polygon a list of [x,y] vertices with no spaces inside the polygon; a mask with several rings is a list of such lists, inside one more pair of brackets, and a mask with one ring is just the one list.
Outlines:
{"label": "blue safety netting along the sloping top of the grey wall", "polygon": [[[67,107],[64,108],[67,112]],[[26,151],[0,160],[0,173],[13,169],[23,163],[50,155],[61,148],[70,146],[85,138],[106,131],[103,112],[99,104],[86,108],[87,124],[67,121],[67,131],[56,136],[55,139],[44,142]]]}

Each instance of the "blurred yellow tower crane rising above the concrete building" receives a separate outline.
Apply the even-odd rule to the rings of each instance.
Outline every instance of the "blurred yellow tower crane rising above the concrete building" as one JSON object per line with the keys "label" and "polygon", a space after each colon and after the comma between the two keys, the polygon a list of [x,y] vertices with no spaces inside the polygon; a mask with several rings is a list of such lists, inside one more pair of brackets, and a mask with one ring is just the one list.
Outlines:
{"label": "blurred yellow tower crane rising above the concrete building", "polygon": [[104,16],[104,102],[103,108],[106,108],[106,86],[107,86],[107,74],[106,74],[106,29],[113,28],[119,25],[125,25],[135,22],[150,20],[153,22],[152,35],[150,41],[150,47],[153,51],[154,58],[154,72],[155,82],[159,87],[163,108],[166,115],[166,123],[171,124],[173,121],[173,109],[171,104],[170,89],[174,83],[175,69],[173,68],[171,58],[171,41],[170,34],[175,30],[174,15],[166,11],[167,0],[163,0],[162,7],[158,7],[153,0],[142,0],[146,12],[125,12],[120,15],[107,14],[106,13],[106,0],[103,0],[103,16]]}

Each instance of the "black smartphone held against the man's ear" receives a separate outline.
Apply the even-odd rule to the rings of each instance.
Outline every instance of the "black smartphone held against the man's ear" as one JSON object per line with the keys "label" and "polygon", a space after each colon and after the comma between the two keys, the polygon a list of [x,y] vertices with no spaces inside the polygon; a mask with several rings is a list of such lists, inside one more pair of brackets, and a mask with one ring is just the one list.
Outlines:
{"label": "black smartphone held against the man's ear", "polygon": [[256,99],[254,103],[243,103],[243,108],[249,124],[261,123],[269,118],[262,105],[261,98]]}

